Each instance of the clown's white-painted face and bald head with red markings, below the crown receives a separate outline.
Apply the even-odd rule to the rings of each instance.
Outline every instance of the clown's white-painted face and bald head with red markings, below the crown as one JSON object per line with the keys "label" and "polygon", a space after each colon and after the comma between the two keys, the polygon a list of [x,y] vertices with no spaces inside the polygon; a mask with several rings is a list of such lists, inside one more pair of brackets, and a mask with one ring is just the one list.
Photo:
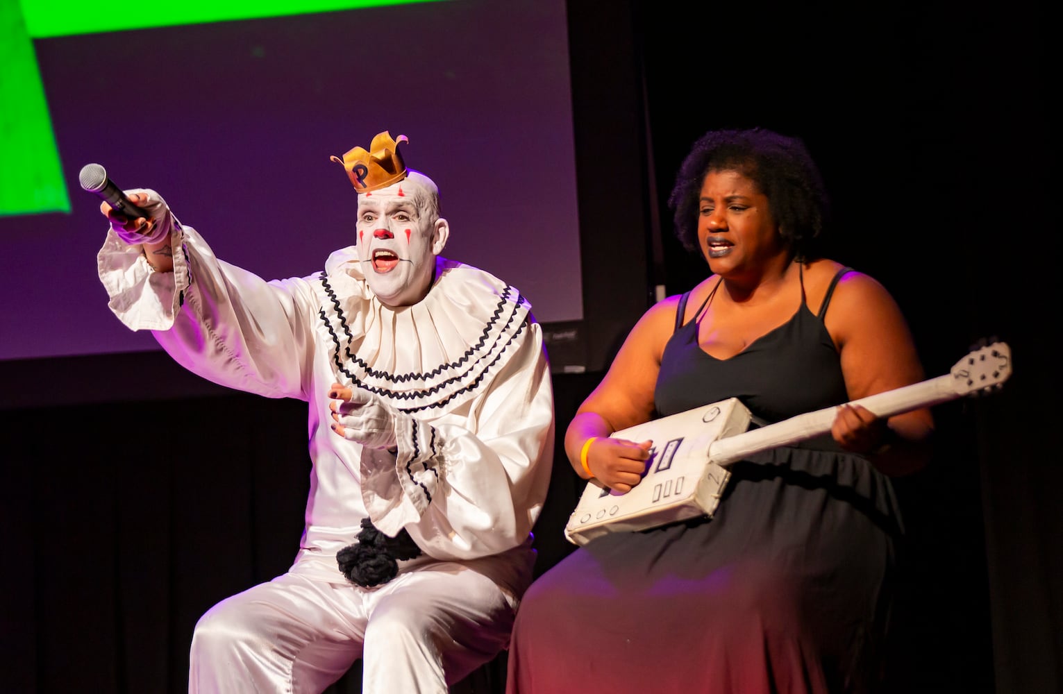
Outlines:
{"label": "clown's white-painted face and bald head with red markings, below the crown", "polygon": [[417,171],[358,194],[358,258],[385,306],[409,306],[428,293],[449,234],[446,220],[436,217],[437,194],[436,184]]}

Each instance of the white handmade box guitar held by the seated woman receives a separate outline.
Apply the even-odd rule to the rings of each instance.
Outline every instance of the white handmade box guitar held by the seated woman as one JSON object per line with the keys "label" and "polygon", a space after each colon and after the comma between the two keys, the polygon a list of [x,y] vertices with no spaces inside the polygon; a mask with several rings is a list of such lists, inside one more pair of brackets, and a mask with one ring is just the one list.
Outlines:
{"label": "white handmade box guitar held by the seated woman", "polygon": [[[990,392],[1010,375],[1011,350],[1003,342],[994,342],[971,352],[944,376],[861,397],[853,404],[880,418],[892,417]],[[613,438],[654,441],[642,481],[620,494],[591,479],[569,518],[564,536],[581,545],[606,532],[645,530],[711,517],[730,475],[727,466],[753,453],[830,431],[837,409],[827,407],[746,430],[753,417],[731,397],[614,431]]]}

